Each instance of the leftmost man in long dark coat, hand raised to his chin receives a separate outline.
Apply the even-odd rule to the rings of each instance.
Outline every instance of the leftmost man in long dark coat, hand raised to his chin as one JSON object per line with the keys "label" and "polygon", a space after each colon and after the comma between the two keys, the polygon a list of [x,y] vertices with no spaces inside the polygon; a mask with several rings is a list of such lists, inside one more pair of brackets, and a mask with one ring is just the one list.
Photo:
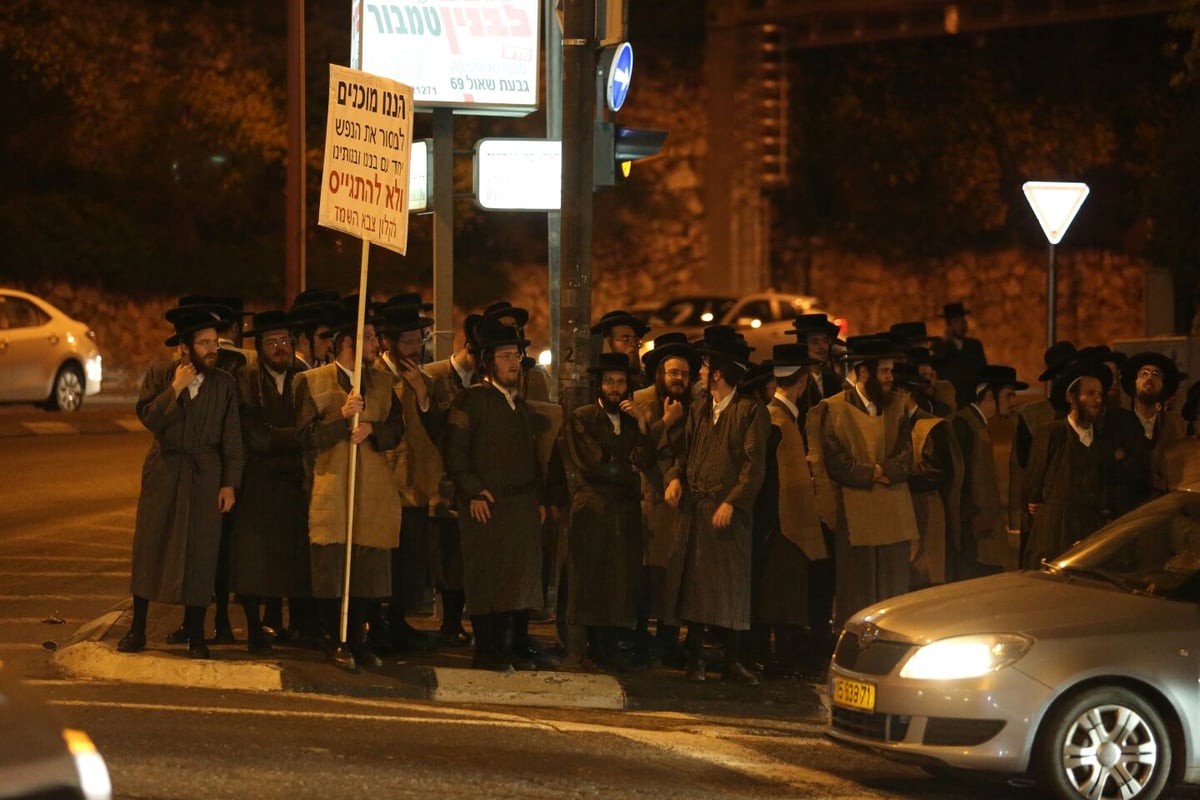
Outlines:
{"label": "leftmost man in long dark coat, hand raised to his chin", "polygon": [[166,341],[178,360],[151,367],[142,383],[138,419],[154,434],[142,468],[133,530],[133,621],[116,649],[146,644],[150,601],[185,607],[187,655],[208,658],[204,609],[212,597],[222,515],[233,509],[244,465],[234,379],[217,369],[217,308],[167,312]]}

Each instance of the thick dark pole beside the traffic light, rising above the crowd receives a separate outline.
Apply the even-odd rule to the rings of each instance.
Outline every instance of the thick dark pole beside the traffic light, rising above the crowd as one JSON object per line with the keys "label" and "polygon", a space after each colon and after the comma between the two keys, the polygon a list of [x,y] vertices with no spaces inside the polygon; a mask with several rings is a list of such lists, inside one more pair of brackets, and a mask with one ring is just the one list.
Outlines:
{"label": "thick dark pole beside the traffic light, rising above the crowd", "polygon": [[590,402],[592,176],[595,0],[563,0],[563,203],[558,289],[558,398],[568,414]]}

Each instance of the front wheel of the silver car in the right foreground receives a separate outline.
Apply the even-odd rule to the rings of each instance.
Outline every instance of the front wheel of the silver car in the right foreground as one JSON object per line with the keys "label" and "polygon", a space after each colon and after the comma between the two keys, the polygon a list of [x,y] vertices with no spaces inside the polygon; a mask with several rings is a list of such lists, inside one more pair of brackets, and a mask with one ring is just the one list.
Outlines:
{"label": "front wheel of the silver car in the right foreground", "polygon": [[1061,800],[1157,798],[1171,771],[1162,716],[1120,686],[1088,688],[1055,708],[1034,745],[1038,783]]}

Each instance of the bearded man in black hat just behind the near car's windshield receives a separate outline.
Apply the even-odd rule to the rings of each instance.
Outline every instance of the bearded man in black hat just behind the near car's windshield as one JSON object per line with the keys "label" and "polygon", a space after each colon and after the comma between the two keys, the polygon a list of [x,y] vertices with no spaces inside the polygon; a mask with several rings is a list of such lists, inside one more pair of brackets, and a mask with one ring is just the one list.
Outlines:
{"label": "bearded man in black hat just behind the near car's windshield", "polygon": [[1060,555],[1108,517],[1104,476],[1111,467],[1111,449],[1098,423],[1111,380],[1106,366],[1082,361],[1063,372],[1051,389],[1051,398],[1070,411],[1042,426],[1033,438],[1025,474],[1033,518],[1021,564],[1027,570]]}

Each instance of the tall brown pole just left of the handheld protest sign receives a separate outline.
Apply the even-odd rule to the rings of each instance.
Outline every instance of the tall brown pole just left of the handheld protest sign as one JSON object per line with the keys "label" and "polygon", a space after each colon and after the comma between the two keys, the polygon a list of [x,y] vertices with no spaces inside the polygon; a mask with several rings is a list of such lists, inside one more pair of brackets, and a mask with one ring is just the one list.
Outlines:
{"label": "tall brown pole just left of the handheld protest sign", "polygon": [[283,305],[304,291],[307,203],[305,200],[304,0],[288,0],[288,178]]}

